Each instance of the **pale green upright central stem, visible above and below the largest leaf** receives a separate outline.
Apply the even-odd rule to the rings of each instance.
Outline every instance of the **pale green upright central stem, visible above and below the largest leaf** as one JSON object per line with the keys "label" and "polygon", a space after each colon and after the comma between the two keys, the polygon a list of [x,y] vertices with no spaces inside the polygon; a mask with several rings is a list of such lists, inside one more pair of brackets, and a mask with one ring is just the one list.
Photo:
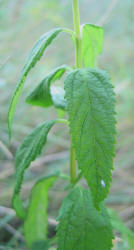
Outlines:
{"label": "pale green upright central stem, visible above and below the largest leaf", "polygon": [[[76,68],[82,67],[82,41],[80,32],[80,18],[79,18],[79,0],[73,0],[73,18],[74,18],[74,32],[75,32],[75,60]],[[75,149],[72,146],[70,149],[70,182],[75,183],[77,177],[76,173],[76,156]]]}

